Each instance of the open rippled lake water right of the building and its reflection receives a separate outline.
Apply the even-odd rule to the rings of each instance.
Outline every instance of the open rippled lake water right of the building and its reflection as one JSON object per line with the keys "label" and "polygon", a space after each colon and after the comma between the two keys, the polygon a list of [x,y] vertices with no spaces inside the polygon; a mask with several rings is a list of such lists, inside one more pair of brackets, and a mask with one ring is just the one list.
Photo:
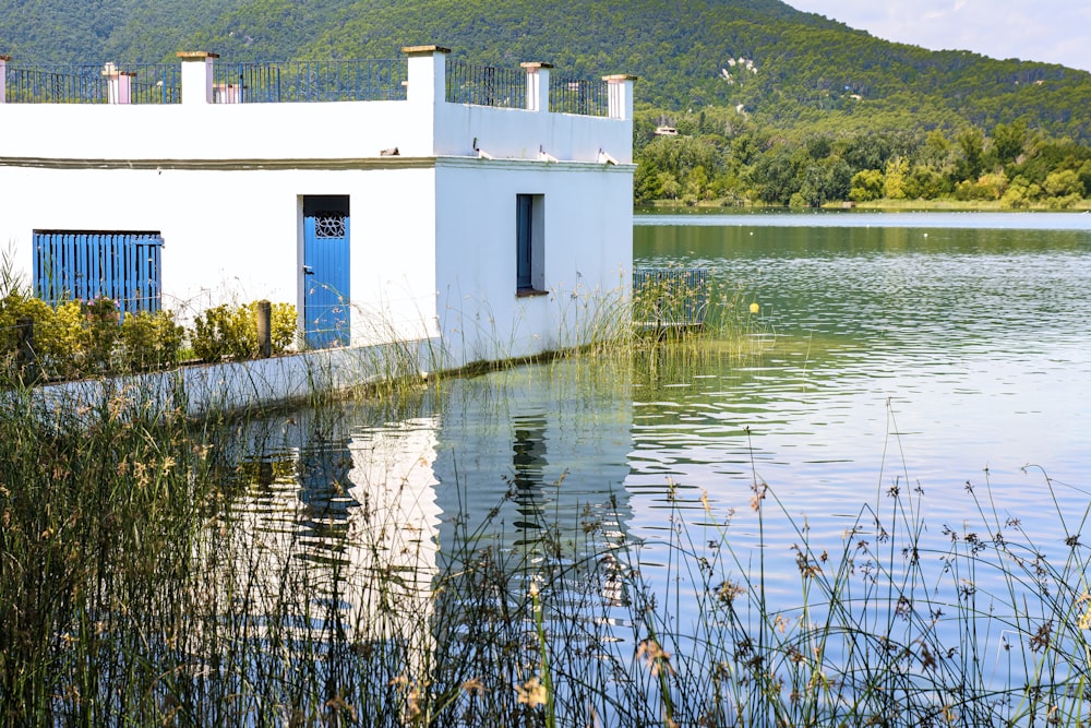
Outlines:
{"label": "open rippled lake water right of the building and its reflection", "polygon": [[[789,510],[834,535],[837,513],[898,478],[924,490],[937,529],[972,518],[966,482],[987,481],[1000,508],[1056,542],[1042,475],[1023,468],[1044,467],[1064,484],[1066,517],[1082,515],[1091,231],[1071,228],[1091,216],[992,216],[1007,229],[944,227],[973,215],[904,227],[825,217],[844,222],[640,220],[643,264],[716,268],[760,305],[775,339],[757,361],[678,382],[666,399],[637,387],[630,484],[670,475],[738,504],[731,484],[748,481],[738,464],[753,452]],[[1051,220],[1062,229],[1043,229]]]}

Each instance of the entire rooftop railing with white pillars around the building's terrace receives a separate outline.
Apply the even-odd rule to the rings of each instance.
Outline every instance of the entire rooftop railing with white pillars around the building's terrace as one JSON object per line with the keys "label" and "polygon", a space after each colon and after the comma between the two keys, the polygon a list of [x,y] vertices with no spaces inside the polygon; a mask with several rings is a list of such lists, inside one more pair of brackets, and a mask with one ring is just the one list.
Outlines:
{"label": "entire rooftop railing with white pillars around the building's terrace", "polygon": [[[407,56],[448,53],[439,46],[408,47]],[[11,104],[278,104],[411,100],[409,58],[394,60],[225,63],[216,53],[180,52],[182,64],[20,65],[0,56],[0,103]],[[440,59],[436,57],[436,61]],[[202,63],[203,69],[194,65]],[[635,76],[601,80],[551,75],[549,63],[519,69],[446,58],[430,74],[444,77],[444,99],[494,108],[595,117],[631,115]],[[185,69],[185,70],[183,70]],[[197,73],[194,73],[197,71]],[[416,73],[416,71],[415,71]],[[434,75],[433,75],[434,77]],[[624,86],[628,83],[628,86]],[[189,92],[182,98],[183,88]],[[425,93],[420,98],[430,98]],[[626,106],[628,105],[628,106]]]}

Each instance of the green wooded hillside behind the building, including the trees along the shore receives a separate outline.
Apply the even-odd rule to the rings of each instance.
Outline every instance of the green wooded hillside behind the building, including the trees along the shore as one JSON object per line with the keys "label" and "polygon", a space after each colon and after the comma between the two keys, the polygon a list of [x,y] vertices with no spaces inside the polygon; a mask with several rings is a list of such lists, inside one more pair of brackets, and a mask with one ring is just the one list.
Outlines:
{"label": "green wooded hillside behind the building, including the trees along the shore", "polygon": [[[0,52],[20,63],[394,58],[440,43],[499,67],[634,73],[638,200],[1091,191],[1091,74],[892,44],[779,0],[0,0]],[[1048,192],[1063,171],[1079,183]]]}

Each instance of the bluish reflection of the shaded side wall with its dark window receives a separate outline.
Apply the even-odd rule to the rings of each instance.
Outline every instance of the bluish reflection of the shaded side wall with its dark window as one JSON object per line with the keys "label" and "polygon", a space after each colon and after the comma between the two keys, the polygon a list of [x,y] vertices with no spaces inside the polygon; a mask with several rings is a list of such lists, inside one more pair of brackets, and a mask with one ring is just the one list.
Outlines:
{"label": "bluish reflection of the shaded side wall with its dark window", "polygon": [[[554,362],[444,383],[434,634],[436,654],[470,671],[495,671],[499,654],[536,675],[546,649],[570,675],[615,679],[606,646],[632,634],[628,558],[618,552],[632,517],[632,401],[616,396],[616,382],[582,381],[582,368]],[[570,699],[579,701],[559,697]]]}

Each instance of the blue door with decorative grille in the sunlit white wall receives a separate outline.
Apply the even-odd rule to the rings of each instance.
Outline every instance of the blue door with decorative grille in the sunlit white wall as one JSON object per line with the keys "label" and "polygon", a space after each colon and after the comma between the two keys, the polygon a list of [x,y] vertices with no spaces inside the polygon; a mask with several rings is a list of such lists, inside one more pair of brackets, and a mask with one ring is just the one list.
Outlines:
{"label": "blue door with decorative grille in the sunlit white wall", "polygon": [[349,343],[347,196],[303,199],[303,333],[311,348]]}

